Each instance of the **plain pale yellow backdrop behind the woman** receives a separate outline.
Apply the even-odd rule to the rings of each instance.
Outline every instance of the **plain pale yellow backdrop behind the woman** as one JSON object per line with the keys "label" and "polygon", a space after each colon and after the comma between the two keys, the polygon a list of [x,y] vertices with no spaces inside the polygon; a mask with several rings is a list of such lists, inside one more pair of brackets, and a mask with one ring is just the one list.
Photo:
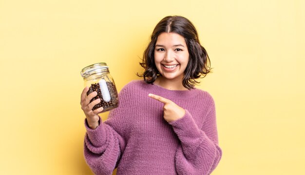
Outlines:
{"label": "plain pale yellow backdrop behind the woman", "polygon": [[0,174],[92,175],[79,72],[106,62],[118,90],[140,79],[167,15],[194,23],[214,68],[198,87],[216,102],[212,175],[304,175],[304,0],[0,0]]}

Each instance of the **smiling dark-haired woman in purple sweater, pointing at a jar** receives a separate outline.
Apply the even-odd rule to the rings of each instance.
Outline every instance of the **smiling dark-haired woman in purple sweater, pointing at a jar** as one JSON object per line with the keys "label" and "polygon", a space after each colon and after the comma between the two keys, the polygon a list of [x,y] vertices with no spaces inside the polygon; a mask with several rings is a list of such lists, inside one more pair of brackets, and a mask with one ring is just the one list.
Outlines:
{"label": "smiling dark-haired woman in purple sweater, pointing at a jar", "polygon": [[213,98],[194,88],[210,59],[191,21],[163,18],[143,55],[144,81],[119,93],[120,104],[102,122],[99,99],[81,94],[87,130],[84,154],[96,175],[209,175],[222,156]]}

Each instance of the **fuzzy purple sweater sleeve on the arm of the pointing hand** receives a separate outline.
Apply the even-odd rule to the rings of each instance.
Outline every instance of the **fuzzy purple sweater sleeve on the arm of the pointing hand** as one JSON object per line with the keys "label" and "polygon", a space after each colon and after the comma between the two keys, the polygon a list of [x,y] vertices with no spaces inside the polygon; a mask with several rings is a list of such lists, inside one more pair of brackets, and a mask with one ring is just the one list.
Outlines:
{"label": "fuzzy purple sweater sleeve on the arm of the pointing hand", "polygon": [[202,129],[198,128],[188,110],[183,118],[170,124],[181,141],[175,154],[178,175],[210,175],[222,156],[218,146],[214,103]]}

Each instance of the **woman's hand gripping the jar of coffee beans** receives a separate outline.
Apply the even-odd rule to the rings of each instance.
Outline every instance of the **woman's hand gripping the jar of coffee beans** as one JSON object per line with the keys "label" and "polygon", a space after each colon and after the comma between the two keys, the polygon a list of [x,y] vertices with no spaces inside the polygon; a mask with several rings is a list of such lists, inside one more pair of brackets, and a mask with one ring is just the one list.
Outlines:
{"label": "woman's hand gripping the jar of coffee beans", "polygon": [[92,108],[100,102],[100,99],[96,99],[95,101],[91,102],[93,97],[97,95],[96,91],[93,91],[87,96],[89,88],[86,87],[81,93],[80,96],[80,105],[81,109],[84,111],[87,119],[87,123],[91,129],[95,129],[98,126],[99,116],[98,113],[103,111],[103,107],[97,108],[94,111]]}

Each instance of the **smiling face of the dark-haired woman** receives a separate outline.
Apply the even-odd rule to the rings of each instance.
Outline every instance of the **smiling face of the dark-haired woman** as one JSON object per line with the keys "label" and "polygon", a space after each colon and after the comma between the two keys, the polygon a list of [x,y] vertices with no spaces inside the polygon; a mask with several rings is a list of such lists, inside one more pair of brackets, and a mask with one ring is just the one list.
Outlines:
{"label": "smiling face of the dark-haired woman", "polygon": [[154,64],[168,80],[182,80],[189,62],[189,51],[183,36],[161,33],[154,49]]}

